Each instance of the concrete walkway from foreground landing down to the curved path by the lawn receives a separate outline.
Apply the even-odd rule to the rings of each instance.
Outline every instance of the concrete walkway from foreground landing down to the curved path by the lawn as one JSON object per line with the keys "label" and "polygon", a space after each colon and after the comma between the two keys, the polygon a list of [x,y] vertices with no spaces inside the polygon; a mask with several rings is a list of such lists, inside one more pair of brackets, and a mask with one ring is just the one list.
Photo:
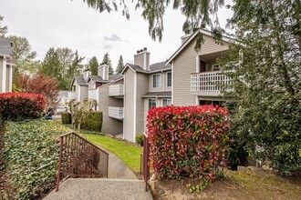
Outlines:
{"label": "concrete walkway from foreground landing down to the curved path by the lawn", "polygon": [[118,156],[109,154],[107,178],[69,178],[52,191],[45,200],[152,200],[150,192],[145,192],[144,182],[125,165]]}

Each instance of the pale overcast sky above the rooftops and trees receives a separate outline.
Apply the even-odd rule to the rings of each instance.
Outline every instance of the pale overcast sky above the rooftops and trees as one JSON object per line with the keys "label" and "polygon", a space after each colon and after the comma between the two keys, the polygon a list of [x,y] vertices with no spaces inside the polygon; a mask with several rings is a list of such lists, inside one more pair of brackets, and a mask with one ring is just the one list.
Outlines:
{"label": "pale overcast sky above the rooftops and trees", "polygon": [[[125,63],[132,62],[133,55],[143,47],[150,51],[150,64],[169,58],[181,45],[184,16],[169,8],[163,40],[154,42],[141,10],[135,11],[131,1],[127,2],[130,21],[120,12],[99,14],[82,0],[0,0],[0,15],[4,16],[2,25],[8,27],[7,35],[26,37],[39,60],[44,60],[51,46],[78,50],[79,55],[86,56],[84,64],[92,56],[101,62],[109,53],[114,68],[119,55]],[[222,25],[230,15],[228,10],[221,11]]]}

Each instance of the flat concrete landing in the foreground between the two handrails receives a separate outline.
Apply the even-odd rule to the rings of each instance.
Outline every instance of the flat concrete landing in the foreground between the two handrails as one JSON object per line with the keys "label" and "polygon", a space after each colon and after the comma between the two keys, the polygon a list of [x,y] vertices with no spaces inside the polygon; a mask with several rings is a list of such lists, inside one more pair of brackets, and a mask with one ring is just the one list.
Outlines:
{"label": "flat concrete landing in the foreground between the two handrails", "polygon": [[130,179],[69,178],[45,200],[151,200],[144,182]]}

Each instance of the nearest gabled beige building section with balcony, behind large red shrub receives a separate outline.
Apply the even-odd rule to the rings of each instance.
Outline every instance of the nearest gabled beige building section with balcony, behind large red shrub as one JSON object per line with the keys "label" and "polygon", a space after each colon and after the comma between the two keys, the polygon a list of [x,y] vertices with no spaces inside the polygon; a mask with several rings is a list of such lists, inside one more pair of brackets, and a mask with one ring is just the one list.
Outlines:
{"label": "nearest gabled beige building section with balcony, behind large red shrub", "polygon": [[[197,35],[203,35],[200,51],[194,50]],[[217,58],[229,50],[231,38],[223,36],[215,42],[211,32],[200,29],[182,37],[182,45],[166,62],[172,71],[172,105],[222,105],[226,99],[219,85],[227,85],[230,78],[219,71]]]}

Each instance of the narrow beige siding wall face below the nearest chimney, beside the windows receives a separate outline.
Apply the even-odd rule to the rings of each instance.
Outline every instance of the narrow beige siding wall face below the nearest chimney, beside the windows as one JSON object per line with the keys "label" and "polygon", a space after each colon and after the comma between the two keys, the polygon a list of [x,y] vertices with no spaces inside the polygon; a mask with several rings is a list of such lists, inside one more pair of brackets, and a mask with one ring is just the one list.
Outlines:
{"label": "narrow beige siding wall face below the nearest chimney, beside the windows", "polygon": [[142,134],[145,127],[145,114],[144,114],[144,99],[142,95],[146,94],[149,89],[148,84],[149,75],[137,74],[137,100],[136,100],[136,135]]}

